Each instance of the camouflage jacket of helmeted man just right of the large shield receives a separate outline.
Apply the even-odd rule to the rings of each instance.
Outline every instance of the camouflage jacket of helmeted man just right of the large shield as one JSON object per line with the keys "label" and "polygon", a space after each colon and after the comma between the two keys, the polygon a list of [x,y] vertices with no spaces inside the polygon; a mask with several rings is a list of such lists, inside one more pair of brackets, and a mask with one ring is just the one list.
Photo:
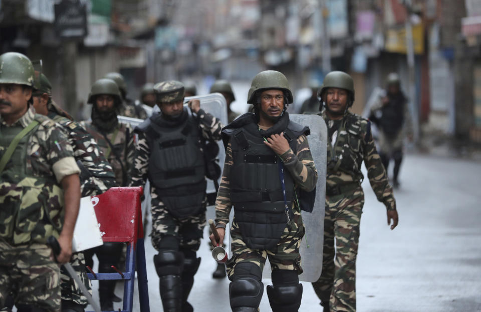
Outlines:
{"label": "camouflage jacket of helmeted man just right of the large shield", "polygon": [[[336,121],[327,116],[325,109],[319,115],[326,121],[328,133],[332,132]],[[339,129],[333,131],[328,138],[326,189],[353,182],[361,183],[364,178],[361,164],[364,160],[377,199],[388,210],[395,210],[396,201],[372,138],[370,122],[348,112],[339,123]]]}

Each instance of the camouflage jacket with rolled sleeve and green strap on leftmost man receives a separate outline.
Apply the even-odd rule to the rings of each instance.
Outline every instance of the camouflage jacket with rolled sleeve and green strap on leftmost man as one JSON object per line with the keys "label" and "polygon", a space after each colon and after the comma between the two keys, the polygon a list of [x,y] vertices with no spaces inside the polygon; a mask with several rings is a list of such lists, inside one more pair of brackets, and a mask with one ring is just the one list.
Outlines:
{"label": "camouflage jacket with rolled sleeve and green strap on leftmost man", "polygon": [[80,172],[61,126],[31,107],[7,125],[0,118],[0,157],[13,137],[32,121],[39,124],[19,143],[0,173],[0,239],[11,244],[45,243],[63,225],[64,177]]}

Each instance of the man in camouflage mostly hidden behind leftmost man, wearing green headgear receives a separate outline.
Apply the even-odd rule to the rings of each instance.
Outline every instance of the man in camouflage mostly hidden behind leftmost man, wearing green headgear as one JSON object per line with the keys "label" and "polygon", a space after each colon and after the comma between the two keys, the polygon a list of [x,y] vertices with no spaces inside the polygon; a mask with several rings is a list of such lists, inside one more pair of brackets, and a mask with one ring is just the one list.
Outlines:
{"label": "man in camouflage mostly hidden behind leftmost man, wearing green headgear", "polygon": [[[112,167],[100,151],[94,138],[72,117],[52,100],[52,85],[44,74],[40,74],[36,91],[33,94],[34,108],[38,114],[48,116],[64,127],[74,157],[81,169],[80,183],[82,197],[102,194],[115,186]],[[85,286],[91,292],[90,280],[85,272],[83,252],[72,254],[70,264],[79,274]],[[64,267],[61,268],[62,312],[82,312],[87,305],[87,298],[80,287]]]}

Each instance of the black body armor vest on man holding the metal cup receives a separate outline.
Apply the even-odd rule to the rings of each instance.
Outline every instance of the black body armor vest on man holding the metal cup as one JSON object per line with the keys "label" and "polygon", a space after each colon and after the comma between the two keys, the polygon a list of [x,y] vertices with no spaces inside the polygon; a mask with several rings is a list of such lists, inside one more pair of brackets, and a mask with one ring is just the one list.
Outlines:
{"label": "black body armor vest on man holding the metal cup", "polygon": [[[284,133],[296,153],[297,138],[303,134],[308,135],[309,128],[288,120],[287,127],[279,129],[277,133]],[[224,128],[222,136],[224,144],[230,142],[232,148],[233,165],[229,183],[235,221],[250,248],[272,249],[287,226],[279,167],[282,160],[264,144],[256,123],[240,128]],[[294,182],[286,169],[284,180],[292,219]]]}

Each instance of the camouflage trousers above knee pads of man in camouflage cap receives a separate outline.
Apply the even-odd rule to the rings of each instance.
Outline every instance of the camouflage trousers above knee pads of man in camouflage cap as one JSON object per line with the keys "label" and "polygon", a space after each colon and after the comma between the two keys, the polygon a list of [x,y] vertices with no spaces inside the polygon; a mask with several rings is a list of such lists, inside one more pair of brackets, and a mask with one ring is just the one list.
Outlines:
{"label": "camouflage trousers above knee pads of man in camouflage cap", "polygon": [[172,235],[179,239],[181,249],[197,251],[205,226],[205,207],[207,201],[202,203],[202,209],[196,215],[178,219],[168,210],[155,192],[152,195],[152,245],[159,251],[159,243],[163,236]]}

